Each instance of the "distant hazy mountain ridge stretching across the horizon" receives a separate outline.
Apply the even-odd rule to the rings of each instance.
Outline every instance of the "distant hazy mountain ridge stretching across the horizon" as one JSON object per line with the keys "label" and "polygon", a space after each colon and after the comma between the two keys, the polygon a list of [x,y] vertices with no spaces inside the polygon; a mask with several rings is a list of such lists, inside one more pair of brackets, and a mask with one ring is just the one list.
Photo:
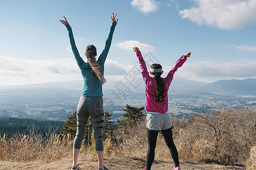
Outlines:
{"label": "distant hazy mountain ridge stretching across the horizon", "polygon": [[[109,94],[117,85],[117,81],[111,81],[103,86],[104,92]],[[133,92],[144,92],[144,83],[139,84],[137,88],[130,86],[129,82],[123,82],[126,87],[130,87]],[[171,84],[171,91],[185,90],[187,92],[210,92],[213,94],[224,94],[224,95],[256,95],[256,79],[230,79],[230,80],[217,80],[216,82],[198,82],[188,79],[175,79]],[[83,81],[82,80],[68,80],[61,82],[47,82],[41,84],[27,84],[27,85],[16,85],[16,86],[0,86],[0,91],[3,90],[14,90],[14,89],[69,89],[82,91]]]}

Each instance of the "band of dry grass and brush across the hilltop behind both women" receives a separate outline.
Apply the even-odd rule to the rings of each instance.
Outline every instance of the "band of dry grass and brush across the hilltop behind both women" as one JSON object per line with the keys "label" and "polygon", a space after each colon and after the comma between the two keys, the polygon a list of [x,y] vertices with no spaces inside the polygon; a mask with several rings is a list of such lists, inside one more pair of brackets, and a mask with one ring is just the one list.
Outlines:
{"label": "band of dry grass and brush across the hilltop behind both women", "polygon": [[[181,162],[218,162],[245,164],[255,168],[256,114],[255,110],[242,108],[229,112],[226,109],[214,114],[201,113],[188,122],[172,118],[173,135]],[[93,139],[93,133],[92,138]],[[94,141],[81,147],[81,155],[96,159]],[[1,138],[0,160],[7,162],[54,162],[72,158],[73,140],[70,135],[55,133],[42,137],[31,130],[30,135]],[[144,120],[126,129],[117,129],[112,140],[104,141],[106,158],[145,160],[147,135]],[[172,162],[170,152],[159,133],[155,150],[156,162]]]}

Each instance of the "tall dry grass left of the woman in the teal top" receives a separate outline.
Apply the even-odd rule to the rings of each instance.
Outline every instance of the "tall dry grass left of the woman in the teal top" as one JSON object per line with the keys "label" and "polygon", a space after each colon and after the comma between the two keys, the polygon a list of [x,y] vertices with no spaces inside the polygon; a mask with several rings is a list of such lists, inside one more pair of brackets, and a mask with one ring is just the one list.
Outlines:
{"label": "tall dry grass left of the woman in the teal top", "polygon": [[29,135],[19,134],[12,138],[5,135],[0,141],[0,160],[31,162],[34,160],[53,161],[72,154],[70,135],[60,136],[46,133],[38,134],[36,128],[30,129]]}

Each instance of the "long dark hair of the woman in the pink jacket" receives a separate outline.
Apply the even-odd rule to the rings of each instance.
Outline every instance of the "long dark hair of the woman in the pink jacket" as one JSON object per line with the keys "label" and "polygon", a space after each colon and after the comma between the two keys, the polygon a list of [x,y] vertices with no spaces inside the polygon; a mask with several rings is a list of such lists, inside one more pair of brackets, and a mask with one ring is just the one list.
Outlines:
{"label": "long dark hair of the woman in the pink jacket", "polygon": [[[151,69],[162,69],[162,66],[158,63],[154,63],[150,66]],[[158,83],[158,86],[156,88],[156,96],[155,96],[155,101],[156,102],[160,102],[162,103],[164,101],[164,84],[163,84],[163,80],[161,78],[161,74],[160,73],[152,73],[155,76],[155,80],[156,83]]]}

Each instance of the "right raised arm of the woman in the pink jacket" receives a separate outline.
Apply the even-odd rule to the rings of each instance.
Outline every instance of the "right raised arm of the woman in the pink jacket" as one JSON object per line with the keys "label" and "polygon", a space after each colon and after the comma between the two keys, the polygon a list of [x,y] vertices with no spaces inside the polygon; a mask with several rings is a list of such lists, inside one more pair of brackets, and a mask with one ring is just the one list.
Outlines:
{"label": "right raised arm of the woman in the pink jacket", "polygon": [[187,60],[187,57],[191,56],[191,52],[188,52],[181,56],[172,66],[171,70],[169,71],[168,75],[166,76],[166,80],[169,83],[169,86],[171,84],[172,79],[174,78],[174,73],[183,65],[183,63]]}

